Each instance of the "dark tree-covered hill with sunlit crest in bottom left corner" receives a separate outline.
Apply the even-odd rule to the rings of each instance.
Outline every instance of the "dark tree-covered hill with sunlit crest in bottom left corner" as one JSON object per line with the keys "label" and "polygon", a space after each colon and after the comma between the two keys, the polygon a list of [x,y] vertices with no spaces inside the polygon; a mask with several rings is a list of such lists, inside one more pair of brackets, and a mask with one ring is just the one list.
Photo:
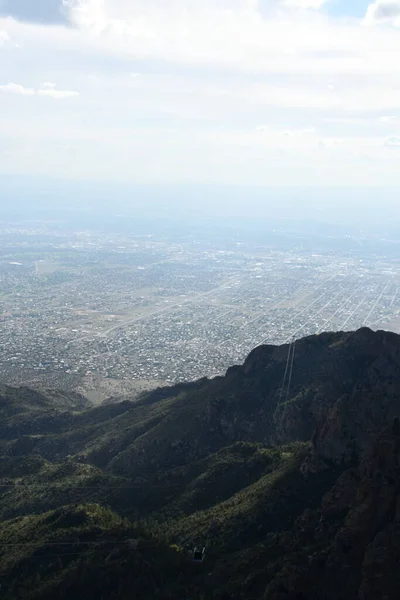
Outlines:
{"label": "dark tree-covered hill with sunlit crest in bottom left corner", "polygon": [[138,535],[98,504],[6,521],[0,524],[2,598],[145,600],[161,589],[165,599],[185,593],[187,556]]}

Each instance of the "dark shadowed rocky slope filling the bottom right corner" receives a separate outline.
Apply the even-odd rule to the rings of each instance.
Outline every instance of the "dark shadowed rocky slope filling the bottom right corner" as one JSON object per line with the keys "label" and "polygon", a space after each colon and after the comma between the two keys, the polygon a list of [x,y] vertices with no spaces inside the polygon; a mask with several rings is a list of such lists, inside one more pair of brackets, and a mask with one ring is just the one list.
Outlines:
{"label": "dark shadowed rocky slope filling the bottom right corner", "polygon": [[395,600],[400,584],[400,425],[375,437],[320,509],[293,531],[295,552],[265,600]]}

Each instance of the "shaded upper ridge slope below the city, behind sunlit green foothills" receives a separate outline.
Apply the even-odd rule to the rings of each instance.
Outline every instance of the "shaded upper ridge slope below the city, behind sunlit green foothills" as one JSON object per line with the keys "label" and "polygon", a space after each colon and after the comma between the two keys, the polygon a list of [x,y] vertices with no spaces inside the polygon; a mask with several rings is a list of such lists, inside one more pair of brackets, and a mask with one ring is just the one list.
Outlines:
{"label": "shaded upper ridge slope below the city, behind sunlit green foothills", "polygon": [[[84,411],[16,415],[0,423],[0,454],[82,460],[126,477],[191,464],[238,441],[315,442],[325,456],[368,444],[397,413],[400,350],[395,334],[369,329],[311,336],[296,344],[289,394],[281,394],[288,346],[261,346],[225,377],[166,388],[139,402]],[[329,417],[327,415],[329,413]],[[347,423],[339,422],[347,419]],[[366,425],[368,420],[368,427]],[[347,433],[329,441],[336,426]],[[21,436],[23,443],[21,442]],[[335,442],[336,443],[336,442]],[[21,448],[22,445],[22,448]]]}

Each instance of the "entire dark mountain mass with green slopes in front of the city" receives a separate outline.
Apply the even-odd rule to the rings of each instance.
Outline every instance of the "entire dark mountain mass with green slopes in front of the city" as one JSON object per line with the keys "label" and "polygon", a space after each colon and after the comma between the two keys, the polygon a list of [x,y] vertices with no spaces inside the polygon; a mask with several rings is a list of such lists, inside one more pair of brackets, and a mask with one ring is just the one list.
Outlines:
{"label": "entire dark mountain mass with green slopes in front of the city", "polygon": [[2,598],[397,600],[399,418],[367,328],[97,407],[0,386]]}

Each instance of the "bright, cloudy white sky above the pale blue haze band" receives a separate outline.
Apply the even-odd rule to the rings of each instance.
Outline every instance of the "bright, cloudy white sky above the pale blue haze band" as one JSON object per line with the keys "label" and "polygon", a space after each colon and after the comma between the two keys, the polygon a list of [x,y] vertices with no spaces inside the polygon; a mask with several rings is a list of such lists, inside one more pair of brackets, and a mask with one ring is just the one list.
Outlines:
{"label": "bright, cloudy white sky above the pale blue haze band", "polygon": [[400,185],[400,0],[0,0],[0,176]]}

